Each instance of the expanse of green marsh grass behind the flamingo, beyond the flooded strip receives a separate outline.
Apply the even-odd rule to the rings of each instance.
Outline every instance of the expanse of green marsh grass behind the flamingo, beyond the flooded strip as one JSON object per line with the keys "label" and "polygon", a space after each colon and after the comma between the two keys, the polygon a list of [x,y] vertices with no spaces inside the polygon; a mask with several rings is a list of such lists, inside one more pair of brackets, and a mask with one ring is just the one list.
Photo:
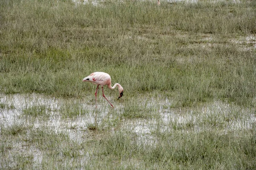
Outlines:
{"label": "expanse of green marsh grass behind the flamingo, beyond the flooded strip", "polygon": [[255,40],[232,40],[256,33],[255,3],[102,5],[3,1],[2,91],[81,97],[95,89],[82,78],[105,71],[129,96],[164,91],[181,106],[212,98],[251,104],[255,48],[243,49]]}

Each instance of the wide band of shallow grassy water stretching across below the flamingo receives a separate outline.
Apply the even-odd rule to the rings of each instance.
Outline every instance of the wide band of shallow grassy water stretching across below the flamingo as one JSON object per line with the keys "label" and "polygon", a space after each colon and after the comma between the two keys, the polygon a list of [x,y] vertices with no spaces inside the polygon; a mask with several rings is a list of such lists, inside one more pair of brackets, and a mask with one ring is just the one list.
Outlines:
{"label": "wide band of shallow grassy water stretching across below the flamingo", "polygon": [[[71,141],[80,144],[90,140],[89,127],[95,125],[97,119],[97,125],[102,129],[110,132],[127,130],[140,139],[137,141],[155,144],[157,136],[162,133],[199,133],[212,129],[227,133],[250,129],[256,123],[253,109],[221,101],[192,108],[172,108],[171,99],[162,96],[141,98],[144,100],[136,107],[131,102],[130,105],[116,103],[115,108],[110,108],[107,102],[99,99],[99,109],[96,110],[94,100],[87,104],[81,99],[60,99],[41,94],[1,94],[0,127],[22,122],[30,131],[64,133]],[[132,98],[128,100],[133,101]],[[124,116],[125,111],[142,112],[149,116],[129,118]],[[29,135],[29,131],[27,133]],[[19,145],[17,148],[22,150]],[[32,147],[29,150],[34,155],[34,161],[42,160],[38,149]]]}

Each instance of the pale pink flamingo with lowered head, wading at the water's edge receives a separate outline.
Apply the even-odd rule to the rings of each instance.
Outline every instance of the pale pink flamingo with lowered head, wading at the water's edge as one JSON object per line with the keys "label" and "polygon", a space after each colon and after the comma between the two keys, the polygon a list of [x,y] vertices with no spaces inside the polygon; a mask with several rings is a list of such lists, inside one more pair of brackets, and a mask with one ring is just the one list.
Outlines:
{"label": "pale pink flamingo with lowered head, wading at the water's edge", "polygon": [[[119,85],[118,83],[116,83],[115,85],[113,85],[113,87],[111,87],[111,77],[108,73],[98,72],[98,71],[94,72],[94,73],[90,74],[90,76],[84,77],[83,82],[91,82],[91,83],[97,85],[96,92],[95,92],[96,108],[97,108],[97,91],[98,91],[99,85],[101,85],[101,87],[102,87],[102,96],[107,101],[108,101],[108,99],[105,97],[104,92],[103,92],[103,86],[104,85],[107,85],[108,88],[110,88],[110,89],[114,89],[117,86],[118,91],[119,91],[118,99],[123,96],[124,88],[122,88],[122,86]],[[113,105],[111,104],[111,102],[108,101],[108,103],[113,108]]]}

